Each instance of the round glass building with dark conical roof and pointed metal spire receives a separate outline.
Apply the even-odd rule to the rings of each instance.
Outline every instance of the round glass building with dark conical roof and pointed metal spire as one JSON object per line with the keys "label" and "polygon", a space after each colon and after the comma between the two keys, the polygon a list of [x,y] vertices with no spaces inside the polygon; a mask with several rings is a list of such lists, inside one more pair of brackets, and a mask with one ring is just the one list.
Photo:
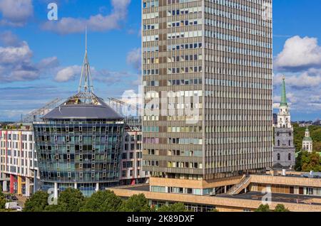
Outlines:
{"label": "round glass building with dark conical roof and pointed metal spire", "polygon": [[123,133],[123,117],[93,92],[86,48],[78,93],[34,122],[42,189],[58,198],[118,185]]}

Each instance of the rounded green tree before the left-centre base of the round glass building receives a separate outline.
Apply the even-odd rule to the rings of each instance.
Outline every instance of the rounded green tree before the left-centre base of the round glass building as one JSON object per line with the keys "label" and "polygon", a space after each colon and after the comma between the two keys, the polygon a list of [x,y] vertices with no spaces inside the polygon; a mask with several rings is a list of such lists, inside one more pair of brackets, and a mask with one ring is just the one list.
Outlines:
{"label": "rounded green tree before the left-centre base of the round glass building", "polygon": [[79,212],[84,202],[83,193],[78,189],[67,188],[59,194],[58,205],[50,206],[46,210],[58,212]]}

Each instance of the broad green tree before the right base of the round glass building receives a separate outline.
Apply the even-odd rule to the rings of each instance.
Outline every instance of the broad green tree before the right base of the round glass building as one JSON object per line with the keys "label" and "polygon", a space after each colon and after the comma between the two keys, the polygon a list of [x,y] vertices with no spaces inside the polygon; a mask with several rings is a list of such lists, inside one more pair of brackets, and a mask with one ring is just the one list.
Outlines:
{"label": "broad green tree before the right base of the round glass building", "polygon": [[98,191],[86,198],[81,211],[83,212],[118,212],[123,200],[111,190]]}

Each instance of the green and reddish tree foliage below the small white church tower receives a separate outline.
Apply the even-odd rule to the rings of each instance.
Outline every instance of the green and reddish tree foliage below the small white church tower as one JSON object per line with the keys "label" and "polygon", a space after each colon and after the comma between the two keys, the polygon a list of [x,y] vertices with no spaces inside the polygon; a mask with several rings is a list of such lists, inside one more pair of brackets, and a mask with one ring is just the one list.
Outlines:
{"label": "green and reddish tree foliage below the small white church tower", "polygon": [[302,172],[321,172],[321,157],[317,152],[308,153],[302,151],[297,156],[297,162],[295,166],[296,171]]}

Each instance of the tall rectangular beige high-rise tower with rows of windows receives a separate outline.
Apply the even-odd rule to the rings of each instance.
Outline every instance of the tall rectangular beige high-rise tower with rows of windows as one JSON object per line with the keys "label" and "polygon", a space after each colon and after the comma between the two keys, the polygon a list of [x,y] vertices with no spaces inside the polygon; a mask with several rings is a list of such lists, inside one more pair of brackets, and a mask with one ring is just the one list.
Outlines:
{"label": "tall rectangular beige high-rise tower with rows of windows", "polygon": [[219,185],[210,181],[272,166],[271,7],[143,0],[143,170],[151,190],[204,195]]}

